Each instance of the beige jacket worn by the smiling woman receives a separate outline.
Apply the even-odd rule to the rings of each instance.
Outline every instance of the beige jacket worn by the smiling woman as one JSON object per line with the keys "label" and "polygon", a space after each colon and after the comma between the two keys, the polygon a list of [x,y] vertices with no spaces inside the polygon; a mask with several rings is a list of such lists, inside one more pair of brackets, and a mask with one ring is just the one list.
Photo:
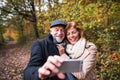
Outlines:
{"label": "beige jacket worn by the smiling woman", "polygon": [[[97,80],[94,72],[96,63],[97,48],[93,43],[87,42],[85,50],[78,59],[83,60],[83,71],[78,73],[72,73],[76,80]],[[68,59],[66,54],[62,55],[63,58]]]}

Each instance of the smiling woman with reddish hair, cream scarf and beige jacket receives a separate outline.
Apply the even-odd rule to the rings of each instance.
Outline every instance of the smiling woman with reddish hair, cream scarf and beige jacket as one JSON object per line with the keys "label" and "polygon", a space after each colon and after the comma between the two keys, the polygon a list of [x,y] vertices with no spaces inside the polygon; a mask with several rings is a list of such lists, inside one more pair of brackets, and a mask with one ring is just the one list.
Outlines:
{"label": "smiling woman with reddish hair, cream scarf and beige jacket", "polygon": [[72,73],[76,80],[97,80],[95,74],[95,62],[97,48],[92,42],[85,38],[82,26],[76,22],[68,22],[65,29],[67,46],[66,54],[64,48],[58,45],[60,55],[65,59],[83,60],[82,72]]}

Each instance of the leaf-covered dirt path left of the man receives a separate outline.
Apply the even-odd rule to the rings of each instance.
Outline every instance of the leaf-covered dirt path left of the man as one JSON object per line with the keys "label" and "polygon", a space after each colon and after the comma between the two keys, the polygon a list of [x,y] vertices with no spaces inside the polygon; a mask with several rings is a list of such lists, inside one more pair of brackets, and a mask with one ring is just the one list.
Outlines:
{"label": "leaf-covered dirt path left of the man", "polygon": [[17,45],[10,42],[0,49],[0,80],[22,80],[23,70],[30,56],[31,43]]}

